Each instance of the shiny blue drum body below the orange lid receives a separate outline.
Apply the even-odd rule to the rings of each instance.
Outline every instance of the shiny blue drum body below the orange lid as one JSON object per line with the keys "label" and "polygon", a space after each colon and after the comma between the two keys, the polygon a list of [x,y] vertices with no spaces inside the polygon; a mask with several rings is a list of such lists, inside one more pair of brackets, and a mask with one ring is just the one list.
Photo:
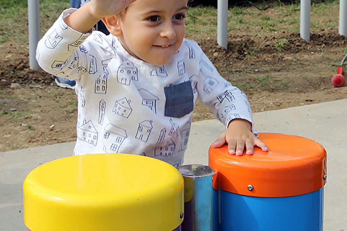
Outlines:
{"label": "shiny blue drum body below the orange lid", "polygon": [[323,188],[289,197],[214,190],[213,231],[323,231]]}

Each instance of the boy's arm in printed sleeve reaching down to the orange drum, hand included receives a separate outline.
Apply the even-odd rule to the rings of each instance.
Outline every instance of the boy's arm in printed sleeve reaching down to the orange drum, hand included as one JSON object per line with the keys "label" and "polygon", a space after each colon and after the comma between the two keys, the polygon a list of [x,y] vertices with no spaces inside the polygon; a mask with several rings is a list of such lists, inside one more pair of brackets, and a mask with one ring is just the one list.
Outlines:
{"label": "boy's arm in printed sleeve reaching down to the orange drum, hand included", "polygon": [[[200,50],[197,47],[196,50]],[[218,148],[228,144],[230,154],[253,154],[254,146],[268,151],[267,146],[256,138],[253,129],[252,111],[246,95],[232,86],[215,69],[208,57],[201,51],[200,75],[197,90],[200,101],[214,110],[215,116],[226,125],[226,131],[212,144]]]}

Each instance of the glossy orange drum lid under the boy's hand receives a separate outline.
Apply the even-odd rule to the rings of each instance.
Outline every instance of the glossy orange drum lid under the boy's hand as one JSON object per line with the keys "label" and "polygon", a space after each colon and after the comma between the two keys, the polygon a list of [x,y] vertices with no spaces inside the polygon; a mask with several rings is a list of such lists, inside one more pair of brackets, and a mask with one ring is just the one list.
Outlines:
{"label": "glossy orange drum lid under the boy's hand", "polygon": [[269,148],[253,155],[230,155],[228,146],[210,147],[209,166],[217,171],[213,188],[258,197],[285,197],[311,193],[324,186],[327,153],[313,140],[295,135],[260,133]]}

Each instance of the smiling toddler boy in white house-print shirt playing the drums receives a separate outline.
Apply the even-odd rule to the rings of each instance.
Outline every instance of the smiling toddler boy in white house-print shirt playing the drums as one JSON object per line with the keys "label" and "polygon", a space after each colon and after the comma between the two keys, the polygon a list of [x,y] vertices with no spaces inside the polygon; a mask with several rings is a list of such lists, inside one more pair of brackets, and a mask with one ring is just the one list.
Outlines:
{"label": "smiling toddler boy in white house-print shirt playing the drums", "polygon": [[[213,146],[267,151],[246,96],[184,38],[186,11],[187,0],[91,0],[65,10],[43,36],[41,67],[77,81],[74,155],[131,153],[179,166],[198,97],[227,127]],[[110,35],[91,33],[100,19]]]}

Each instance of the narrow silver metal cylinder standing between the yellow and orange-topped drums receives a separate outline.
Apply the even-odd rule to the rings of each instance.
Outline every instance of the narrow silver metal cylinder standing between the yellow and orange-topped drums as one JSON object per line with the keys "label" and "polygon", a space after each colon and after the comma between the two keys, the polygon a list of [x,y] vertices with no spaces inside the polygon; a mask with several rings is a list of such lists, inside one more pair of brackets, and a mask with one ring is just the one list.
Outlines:
{"label": "narrow silver metal cylinder standing between the yellow and orange-topped drums", "polygon": [[182,231],[212,230],[212,176],[216,173],[205,165],[178,167],[184,179],[184,220]]}

